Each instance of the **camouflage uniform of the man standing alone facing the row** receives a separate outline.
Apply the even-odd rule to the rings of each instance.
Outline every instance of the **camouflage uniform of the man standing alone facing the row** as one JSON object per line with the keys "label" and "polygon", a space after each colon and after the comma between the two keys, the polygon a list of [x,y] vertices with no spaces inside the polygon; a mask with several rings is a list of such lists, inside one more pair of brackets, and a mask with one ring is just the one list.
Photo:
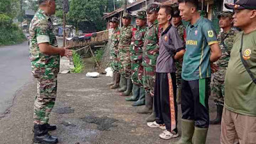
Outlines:
{"label": "camouflage uniform of the man standing alone facing the row", "polygon": [[47,124],[54,106],[57,91],[57,74],[60,68],[60,54],[47,55],[40,52],[38,44],[49,43],[58,47],[52,31],[52,19],[38,10],[31,20],[29,52],[32,74],[37,79],[37,95],[34,107],[34,123]]}

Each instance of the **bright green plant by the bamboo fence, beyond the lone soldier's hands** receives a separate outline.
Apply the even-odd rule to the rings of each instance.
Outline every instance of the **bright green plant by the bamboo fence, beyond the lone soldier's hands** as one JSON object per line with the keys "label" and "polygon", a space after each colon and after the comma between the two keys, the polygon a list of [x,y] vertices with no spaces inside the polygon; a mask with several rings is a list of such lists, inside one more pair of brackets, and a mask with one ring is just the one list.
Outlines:
{"label": "bright green plant by the bamboo fence, beyond the lone soldier's hands", "polygon": [[84,62],[76,51],[73,51],[74,70],[73,73],[82,73],[84,71]]}

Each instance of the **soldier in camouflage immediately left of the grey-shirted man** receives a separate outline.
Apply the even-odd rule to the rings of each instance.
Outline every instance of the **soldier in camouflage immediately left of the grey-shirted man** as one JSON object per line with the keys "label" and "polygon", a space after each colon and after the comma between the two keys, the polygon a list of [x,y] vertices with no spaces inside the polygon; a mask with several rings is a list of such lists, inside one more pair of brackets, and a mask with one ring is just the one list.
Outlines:
{"label": "soldier in camouflage immediately left of the grey-shirted man", "polygon": [[140,114],[151,113],[148,116],[147,122],[154,121],[155,115],[153,108],[154,84],[156,82],[156,60],[159,55],[159,25],[157,21],[157,12],[159,10],[158,3],[148,4],[147,6],[147,20],[150,26],[145,34],[145,42],[143,45],[143,86],[146,90],[145,107],[138,111]]}

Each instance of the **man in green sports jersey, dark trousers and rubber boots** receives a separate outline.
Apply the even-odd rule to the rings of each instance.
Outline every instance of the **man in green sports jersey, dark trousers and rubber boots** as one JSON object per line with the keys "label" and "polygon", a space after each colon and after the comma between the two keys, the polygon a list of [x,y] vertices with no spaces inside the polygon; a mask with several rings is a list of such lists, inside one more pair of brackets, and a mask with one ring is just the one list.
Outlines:
{"label": "man in green sports jersey, dark trousers and rubber boots", "polygon": [[197,6],[198,0],[179,0],[180,16],[189,22],[182,63],[182,138],[179,144],[192,143],[192,137],[196,144],[206,141],[211,63],[221,56],[214,28],[209,20],[200,17]]}

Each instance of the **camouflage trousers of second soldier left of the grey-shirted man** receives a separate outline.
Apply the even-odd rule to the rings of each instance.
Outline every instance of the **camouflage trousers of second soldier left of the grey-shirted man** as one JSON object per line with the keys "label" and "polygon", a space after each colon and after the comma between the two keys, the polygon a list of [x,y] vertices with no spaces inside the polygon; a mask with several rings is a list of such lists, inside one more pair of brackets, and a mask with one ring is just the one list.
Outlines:
{"label": "camouflage trousers of second soldier left of the grey-shirted man", "polygon": [[[142,61],[136,60],[132,61],[132,74],[131,79],[132,83],[137,84],[138,86],[143,86],[142,84],[142,76],[143,76],[143,66],[141,66]],[[140,72],[140,70],[142,72]],[[139,75],[140,72],[140,75]],[[142,73],[142,76],[141,76]]]}

